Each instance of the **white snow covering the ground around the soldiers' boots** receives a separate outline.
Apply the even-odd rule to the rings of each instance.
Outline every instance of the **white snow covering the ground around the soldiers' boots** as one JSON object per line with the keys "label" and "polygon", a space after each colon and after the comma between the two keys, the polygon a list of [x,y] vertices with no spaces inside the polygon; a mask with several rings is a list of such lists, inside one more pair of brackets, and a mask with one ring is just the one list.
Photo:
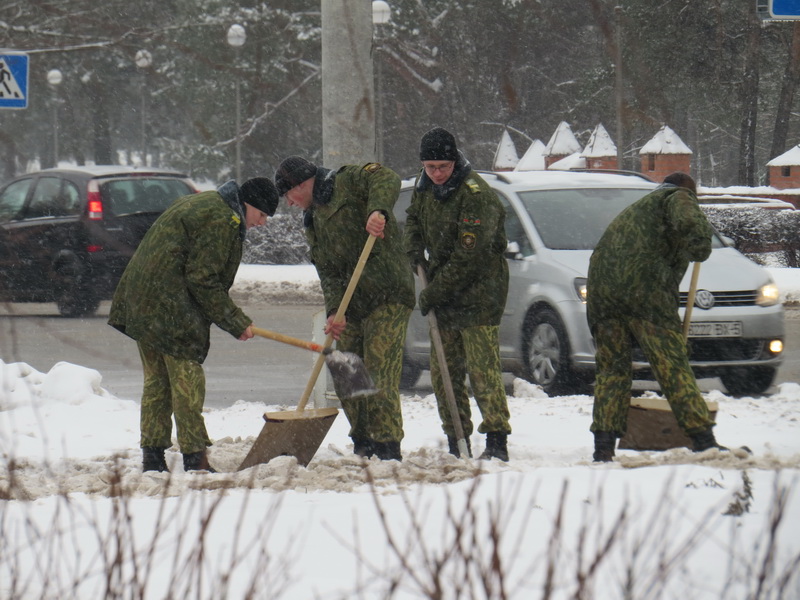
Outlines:
{"label": "white snow covering the ground around the soldiers' boots", "polygon": [[[800,297],[797,270],[771,271]],[[318,283],[250,265],[236,286]],[[173,447],[170,475],[143,474],[136,398],[69,357],[0,361],[0,597],[799,598],[800,385],[707,398],[752,455],[595,465],[592,398],[516,380],[507,464],[450,456],[433,396],[404,396],[402,463],[356,458],[340,414],[307,468],[236,472],[266,410],[238,402],[205,413],[223,472],[187,475]]]}

